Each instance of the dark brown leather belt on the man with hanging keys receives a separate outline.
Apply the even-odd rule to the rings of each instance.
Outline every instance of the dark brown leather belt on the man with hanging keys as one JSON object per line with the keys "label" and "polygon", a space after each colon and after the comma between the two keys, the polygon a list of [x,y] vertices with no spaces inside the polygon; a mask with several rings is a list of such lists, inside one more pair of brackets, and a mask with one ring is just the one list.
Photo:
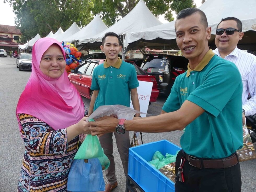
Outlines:
{"label": "dark brown leather belt on the man with hanging keys", "polygon": [[238,157],[236,153],[233,155],[223,158],[223,159],[203,159],[196,158],[194,156],[188,155],[183,151],[184,157],[188,160],[189,165],[201,168],[212,168],[212,169],[221,169],[228,168],[236,165],[238,163]]}

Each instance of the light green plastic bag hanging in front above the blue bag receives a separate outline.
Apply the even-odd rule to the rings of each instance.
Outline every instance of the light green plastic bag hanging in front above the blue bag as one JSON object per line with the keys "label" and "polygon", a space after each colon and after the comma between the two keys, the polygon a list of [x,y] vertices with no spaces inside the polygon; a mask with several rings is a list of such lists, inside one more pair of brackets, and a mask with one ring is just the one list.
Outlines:
{"label": "light green plastic bag hanging in front above the blue bag", "polygon": [[[90,119],[89,121],[92,120]],[[96,135],[87,135],[79,147],[77,154],[75,154],[74,159],[92,159],[102,157],[103,155],[104,153],[98,137]]]}

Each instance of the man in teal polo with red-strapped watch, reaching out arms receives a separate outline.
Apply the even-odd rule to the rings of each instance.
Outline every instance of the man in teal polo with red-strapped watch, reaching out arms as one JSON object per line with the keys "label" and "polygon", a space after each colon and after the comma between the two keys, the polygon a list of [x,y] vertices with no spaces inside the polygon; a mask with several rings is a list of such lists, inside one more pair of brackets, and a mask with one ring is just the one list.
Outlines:
{"label": "man in teal polo with red-strapped watch, reaching out arms", "polygon": [[[241,191],[236,150],[243,146],[242,80],[234,63],[209,50],[205,14],[184,9],[175,22],[176,42],[188,58],[188,71],[179,75],[162,113],[124,121],[126,130],[183,130],[176,158],[175,191]],[[103,117],[90,123],[93,135],[115,131],[119,120]],[[119,123],[120,124],[120,123]],[[181,168],[179,168],[181,166]],[[179,169],[178,169],[179,168]]]}

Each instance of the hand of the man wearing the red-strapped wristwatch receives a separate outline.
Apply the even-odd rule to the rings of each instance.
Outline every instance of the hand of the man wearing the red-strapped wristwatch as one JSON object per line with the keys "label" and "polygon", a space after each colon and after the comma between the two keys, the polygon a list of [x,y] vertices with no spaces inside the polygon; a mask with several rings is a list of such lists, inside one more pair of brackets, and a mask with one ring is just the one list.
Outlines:
{"label": "hand of the man wearing the red-strapped wristwatch", "polygon": [[104,133],[115,132],[115,127],[119,123],[119,119],[117,119],[117,115],[104,116],[95,121],[90,121],[90,131],[92,135],[102,136]]}

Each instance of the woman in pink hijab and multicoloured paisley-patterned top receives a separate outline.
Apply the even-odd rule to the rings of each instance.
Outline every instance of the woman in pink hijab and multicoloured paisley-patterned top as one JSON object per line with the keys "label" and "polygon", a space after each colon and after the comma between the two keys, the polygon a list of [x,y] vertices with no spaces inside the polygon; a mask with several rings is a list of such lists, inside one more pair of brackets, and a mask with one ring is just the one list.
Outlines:
{"label": "woman in pink hijab and multicoloured paisley-patterned top", "polygon": [[67,191],[79,134],[91,133],[87,109],[65,66],[57,40],[42,38],[34,44],[32,73],[16,109],[25,144],[18,191]]}

